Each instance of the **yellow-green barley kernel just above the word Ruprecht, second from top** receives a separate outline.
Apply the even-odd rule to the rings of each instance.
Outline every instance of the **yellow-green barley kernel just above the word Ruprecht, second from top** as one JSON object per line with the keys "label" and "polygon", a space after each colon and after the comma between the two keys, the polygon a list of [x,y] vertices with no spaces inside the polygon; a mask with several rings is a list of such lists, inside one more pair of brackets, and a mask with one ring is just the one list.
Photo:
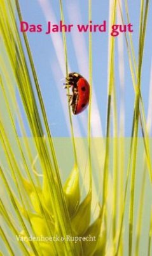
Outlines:
{"label": "yellow-green barley kernel just above the word Ruprecht, second from top", "polygon": [[71,225],[74,231],[74,234],[82,236],[85,234],[91,217],[91,202],[92,202],[92,192],[89,191],[85,200],[81,202],[76,213],[71,219]]}

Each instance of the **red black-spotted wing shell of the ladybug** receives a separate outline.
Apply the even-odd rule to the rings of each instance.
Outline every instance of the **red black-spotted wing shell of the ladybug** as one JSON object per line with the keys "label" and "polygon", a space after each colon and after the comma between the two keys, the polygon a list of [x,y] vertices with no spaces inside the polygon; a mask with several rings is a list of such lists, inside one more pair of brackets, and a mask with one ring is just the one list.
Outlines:
{"label": "red black-spotted wing shell of the ladybug", "polygon": [[90,86],[84,77],[80,77],[78,80],[78,104],[76,105],[76,111],[74,115],[81,113],[86,109],[89,102]]}

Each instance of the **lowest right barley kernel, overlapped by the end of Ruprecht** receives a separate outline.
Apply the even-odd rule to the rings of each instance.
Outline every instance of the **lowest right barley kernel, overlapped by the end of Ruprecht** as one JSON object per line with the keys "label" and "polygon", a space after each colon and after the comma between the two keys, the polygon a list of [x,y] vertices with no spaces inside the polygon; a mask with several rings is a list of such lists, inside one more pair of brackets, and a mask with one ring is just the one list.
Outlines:
{"label": "lowest right barley kernel, overlapped by the end of Ruprecht", "polygon": [[[102,224],[102,209],[100,209],[100,214],[97,220],[95,220],[90,227],[86,230],[84,236],[85,237],[93,237],[93,241],[82,241],[83,252],[85,256],[94,255],[98,244],[99,244],[99,236],[100,236],[100,228]],[[102,242],[105,242],[104,236],[102,237]],[[104,243],[100,244],[104,248]],[[102,254],[100,254],[102,255]]]}

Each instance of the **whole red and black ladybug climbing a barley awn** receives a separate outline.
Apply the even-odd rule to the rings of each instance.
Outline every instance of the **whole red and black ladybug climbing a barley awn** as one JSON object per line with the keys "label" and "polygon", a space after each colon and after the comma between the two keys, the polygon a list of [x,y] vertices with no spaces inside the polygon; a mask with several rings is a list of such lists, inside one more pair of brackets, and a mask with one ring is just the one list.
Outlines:
{"label": "whole red and black ladybug climbing a barley awn", "polygon": [[65,88],[67,86],[72,88],[72,95],[67,95],[69,97],[69,104],[73,114],[78,115],[88,106],[90,86],[83,76],[75,72],[69,73],[66,77]]}

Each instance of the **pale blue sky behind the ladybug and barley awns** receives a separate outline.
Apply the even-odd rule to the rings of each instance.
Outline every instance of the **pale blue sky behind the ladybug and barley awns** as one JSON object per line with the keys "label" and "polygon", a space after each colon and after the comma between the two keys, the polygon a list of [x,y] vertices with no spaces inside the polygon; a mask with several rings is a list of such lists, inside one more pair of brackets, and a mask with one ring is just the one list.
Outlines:
{"label": "pale blue sky behind the ladybug and barley awns", "polygon": [[[66,24],[74,24],[71,33],[67,36],[67,54],[69,60],[69,72],[79,72],[88,79],[88,33],[79,33],[76,24],[88,23],[88,0],[64,0],[64,17]],[[53,24],[59,24],[60,6],[56,0],[20,0],[23,19],[29,24],[42,24],[46,28],[46,23],[50,20]],[[123,6],[124,7],[124,6]],[[138,54],[139,38],[139,15],[140,1],[128,1],[130,22],[133,24],[136,60]],[[142,67],[141,92],[146,114],[148,113],[149,82],[151,70],[151,24],[152,9],[149,6],[148,28],[146,31],[146,45],[144,50],[144,60]],[[124,9],[124,8],[123,8]],[[107,111],[107,65],[108,65],[108,40],[109,40],[109,1],[92,1],[92,21],[93,24],[107,22],[106,33],[92,33],[92,56],[93,56],[93,100],[92,100],[92,135],[105,136],[106,134],[106,111]],[[128,22],[126,22],[128,23]],[[19,26],[19,24],[18,24]],[[21,33],[22,34],[22,33]],[[52,33],[45,35],[42,33],[27,33],[32,50],[32,56],[36,66],[43,100],[45,102],[48,122],[52,136],[70,136],[69,115],[67,109],[66,90],[63,89],[61,81],[66,76],[64,62],[64,48],[62,44],[62,33]],[[123,40],[124,62],[124,99],[120,90],[119,65],[123,67],[123,62],[119,64],[118,40]],[[130,75],[128,63],[127,47],[125,36],[116,37],[115,50],[115,78],[116,78],[116,99],[118,104],[118,123],[120,122],[121,99],[125,106],[125,136],[131,136],[132,118],[134,110],[134,88]],[[87,136],[87,111],[80,115],[73,116],[75,136]],[[140,134],[140,132],[139,132]]]}

